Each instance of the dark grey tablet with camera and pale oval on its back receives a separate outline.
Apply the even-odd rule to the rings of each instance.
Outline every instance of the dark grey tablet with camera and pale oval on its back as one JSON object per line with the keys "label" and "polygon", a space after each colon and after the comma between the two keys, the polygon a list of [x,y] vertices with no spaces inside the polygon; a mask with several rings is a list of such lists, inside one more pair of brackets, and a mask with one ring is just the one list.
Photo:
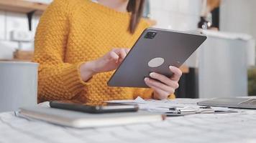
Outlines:
{"label": "dark grey tablet with camera and pale oval on its back", "polygon": [[169,66],[180,67],[205,40],[202,34],[145,29],[107,84],[109,87],[147,87],[144,79],[151,72],[171,77]]}

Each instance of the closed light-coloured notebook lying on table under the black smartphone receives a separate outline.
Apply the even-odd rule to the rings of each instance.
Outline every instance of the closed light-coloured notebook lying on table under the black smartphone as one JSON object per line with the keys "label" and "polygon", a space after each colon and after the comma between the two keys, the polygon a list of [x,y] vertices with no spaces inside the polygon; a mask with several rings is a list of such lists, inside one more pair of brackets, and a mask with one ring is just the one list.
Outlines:
{"label": "closed light-coloured notebook lying on table under the black smartphone", "polygon": [[90,114],[49,107],[22,107],[19,110],[19,116],[76,128],[160,122],[165,119],[163,114],[146,111]]}

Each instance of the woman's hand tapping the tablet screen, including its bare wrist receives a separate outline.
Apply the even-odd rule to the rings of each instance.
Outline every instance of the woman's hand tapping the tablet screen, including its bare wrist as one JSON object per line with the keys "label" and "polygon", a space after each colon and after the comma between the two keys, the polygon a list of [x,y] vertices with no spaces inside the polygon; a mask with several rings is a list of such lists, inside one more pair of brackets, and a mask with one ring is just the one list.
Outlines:
{"label": "woman's hand tapping the tablet screen, including its bare wrist", "polygon": [[94,74],[116,69],[128,52],[129,49],[112,49],[99,59],[82,64],[80,66],[81,78],[86,82]]}

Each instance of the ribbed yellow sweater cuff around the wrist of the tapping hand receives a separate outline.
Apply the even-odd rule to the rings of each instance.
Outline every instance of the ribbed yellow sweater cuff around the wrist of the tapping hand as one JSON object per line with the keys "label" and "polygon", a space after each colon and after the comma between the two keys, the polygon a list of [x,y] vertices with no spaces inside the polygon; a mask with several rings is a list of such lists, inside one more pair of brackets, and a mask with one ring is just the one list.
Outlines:
{"label": "ribbed yellow sweater cuff around the wrist of the tapping hand", "polygon": [[65,75],[63,75],[64,85],[73,92],[81,91],[81,88],[90,85],[89,82],[83,82],[81,79],[81,64],[83,64],[83,62],[68,66],[67,69],[65,69]]}

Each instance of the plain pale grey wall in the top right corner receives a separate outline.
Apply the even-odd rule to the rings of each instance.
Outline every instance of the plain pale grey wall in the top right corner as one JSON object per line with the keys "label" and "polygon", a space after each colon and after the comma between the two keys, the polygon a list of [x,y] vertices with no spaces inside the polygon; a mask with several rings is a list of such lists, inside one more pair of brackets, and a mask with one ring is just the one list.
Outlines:
{"label": "plain pale grey wall in the top right corner", "polygon": [[221,31],[250,34],[256,39],[256,1],[224,0],[220,9]]}

